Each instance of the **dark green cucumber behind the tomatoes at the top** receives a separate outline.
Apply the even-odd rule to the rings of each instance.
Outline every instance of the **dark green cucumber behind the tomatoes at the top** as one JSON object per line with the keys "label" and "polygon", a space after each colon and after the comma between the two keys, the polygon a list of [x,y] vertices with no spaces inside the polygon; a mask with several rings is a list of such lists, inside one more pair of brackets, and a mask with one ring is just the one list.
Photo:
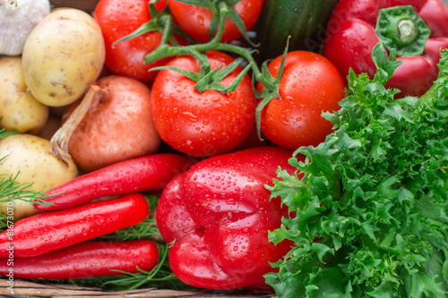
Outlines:
{"label": "dark green cucumber behind the tomatoes at the top", "polygon": [[320,53],[326,24],[339,0],[264,0],[255,32],[259,61],[281,55],[289,37],[289,51]]}

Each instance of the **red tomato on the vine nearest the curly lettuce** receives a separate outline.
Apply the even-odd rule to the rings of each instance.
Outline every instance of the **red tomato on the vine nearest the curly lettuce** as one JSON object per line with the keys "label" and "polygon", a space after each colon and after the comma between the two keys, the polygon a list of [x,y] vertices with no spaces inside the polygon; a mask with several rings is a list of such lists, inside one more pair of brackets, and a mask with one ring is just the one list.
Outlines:
{"label": "red tomato on the vine nearest the curly lettuce", "polygon": [[[282,56],[268,65],[277,77]],[[263,89],[260,83],[258,91]],[[345,97],[345,83],[338,69],[323,55],[307,51],[289,52],[281,74],[280,98],[273,98],[261,115],[263,135],[287,148],[316,146],[332,132],[332,123],[322,112],[337,111]]]}

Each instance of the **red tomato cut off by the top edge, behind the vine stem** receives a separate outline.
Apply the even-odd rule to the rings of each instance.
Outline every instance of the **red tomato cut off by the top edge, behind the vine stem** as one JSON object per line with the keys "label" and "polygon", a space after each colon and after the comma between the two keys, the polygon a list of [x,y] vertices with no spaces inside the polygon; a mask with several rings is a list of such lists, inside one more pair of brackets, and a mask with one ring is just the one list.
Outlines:
{"label": "red tomato cut off by the top edge, behind the vine stem", "polygon": [[[258,20],[263,8],[263,0],[242,0],[234,8],[241,20],[250,30]],[[194,5],[168,0],[169,10],[179,26],[192,38],[205,43],[210,40],[211,10]],[[242,36],[237,25],[228,18],[224,27],[221,42],[230,42]]]}

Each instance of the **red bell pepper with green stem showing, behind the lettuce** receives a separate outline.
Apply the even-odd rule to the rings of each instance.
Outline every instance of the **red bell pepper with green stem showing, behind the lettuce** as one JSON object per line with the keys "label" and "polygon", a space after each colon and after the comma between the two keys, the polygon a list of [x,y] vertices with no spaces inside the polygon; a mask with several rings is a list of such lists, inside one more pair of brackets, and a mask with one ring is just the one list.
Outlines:
{"label": "red bell pepper with green stem showing, behind the lettuce", "polygon": [[448,47],[448,7],[442,0],[340,0],[327,23],[323,55],[346,77],[375,75],[372,49],[382,42],[402,64],[386,87],[397,97],[421,96],[438,74],[440,49]]}

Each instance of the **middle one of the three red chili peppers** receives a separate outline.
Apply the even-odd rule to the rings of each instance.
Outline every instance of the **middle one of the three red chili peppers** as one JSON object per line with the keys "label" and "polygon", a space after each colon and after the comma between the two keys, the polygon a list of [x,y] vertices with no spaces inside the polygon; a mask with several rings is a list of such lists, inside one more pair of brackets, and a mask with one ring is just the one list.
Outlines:
{"label": "middle one of the three red chili peppers", "polygon": [[44,212],[22,218],[0,234],[0,258],[10,252],[27,258],[82,243],[142,222],[150,213],[141,193],[102,200],[72,209]]}

